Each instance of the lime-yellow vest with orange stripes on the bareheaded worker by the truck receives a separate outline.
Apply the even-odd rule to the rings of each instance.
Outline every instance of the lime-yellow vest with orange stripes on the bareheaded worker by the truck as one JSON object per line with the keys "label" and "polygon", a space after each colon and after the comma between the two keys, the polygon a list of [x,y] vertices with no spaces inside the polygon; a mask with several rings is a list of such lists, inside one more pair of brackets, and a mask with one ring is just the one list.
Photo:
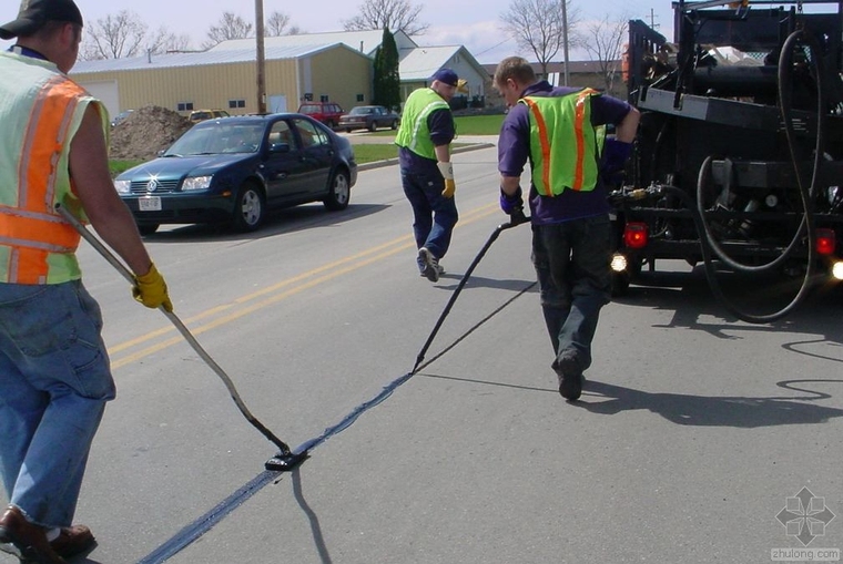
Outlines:
{"label": "lime-yellow vest with orange stripes on the bareheaded worker by the truck", "polygon": [[591,96],[583,89],[563,96],[526,96],[530,116],[532,185],[542,196],[597,186],[599,143],[591,125]]}

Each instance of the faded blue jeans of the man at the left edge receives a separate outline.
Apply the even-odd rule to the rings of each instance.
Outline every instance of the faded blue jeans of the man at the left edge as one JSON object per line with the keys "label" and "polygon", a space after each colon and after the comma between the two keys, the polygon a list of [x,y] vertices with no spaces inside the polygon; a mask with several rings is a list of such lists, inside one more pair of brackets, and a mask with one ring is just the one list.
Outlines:
{"label": "faded blue jeans of the man at the left edge", "polygon": [[114,380],[81,281],[0,284],[0,470],[9,501],[69,526]]}

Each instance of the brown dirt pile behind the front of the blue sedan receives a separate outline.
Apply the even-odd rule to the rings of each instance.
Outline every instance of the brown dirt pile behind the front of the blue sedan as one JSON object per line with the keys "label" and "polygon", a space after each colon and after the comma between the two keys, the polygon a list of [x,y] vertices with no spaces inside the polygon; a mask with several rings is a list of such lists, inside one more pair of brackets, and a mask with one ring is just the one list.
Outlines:
{"label": "brown dirt pile behind the front of the blue sedan", "polygon": [[111,158],[153,158],[191,129],[186,117],[156,105],[135,110],[111,129]]}

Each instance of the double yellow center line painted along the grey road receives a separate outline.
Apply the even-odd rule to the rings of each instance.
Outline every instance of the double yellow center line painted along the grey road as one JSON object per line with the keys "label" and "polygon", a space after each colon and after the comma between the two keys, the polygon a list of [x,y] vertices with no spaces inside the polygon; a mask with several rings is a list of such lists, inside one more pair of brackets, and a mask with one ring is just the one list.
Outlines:
{"label": "double yellow center line painted along the grey road", "polygon": [[[457,227],[470,225],[479,219],[483,219],[492,213],[497,211],[497,206],[489,204],[487,206],[483,206],[480,208],[477,208],[473,211],[471,213],[466,214],[466,217],[460,217],[460,222],[457,224]],[[261,308],[264,308],[268,305],[276,304],[278,301],[282,301],[286,298],[290,298],[291,296],[295,296],[296,294],[299,294],[306,289],[313,288],[314,286],[318,286],[319,284],[323,284],[325,281],[332,280],[338,276],[342,276],[344,274],[352,273],[354,270],[357,270],[359,268],[363,268],[364,266],[367,266],[372,263],[376,263],[378,260],[383,260],[384,258],[390,257],[399,252],[406,250],[407,248],[415,247],[416,243],[413,238],[413,236],[403,236],[397,239],[394,239],[392,242],[385,243],[383,245],[378,245],[376,247],[372,247],[369,249],[366,249],[362,253],[357,253],[355,255],[345,257],[339,260],[335,260],[333,263],[328,263],[326,265],[319,266],[317,268],[314,268],[312,270],[308,270],[306,273],[302,273],[297,276],[294,276],[292,278],[287,278],[278,284],[272,285],[267,288],[262,288],[257,291],[254,291],[252,294],[248,294],[246,296],[242,296],[240,298],[236,298],[231,304],[224,304],[214,308],[211,308],[206,311],[203,311],[196,316],[191,317],[185,325],[190,322],[196,322],[199,320],[205,319],[210,316],[217,315],[222,311],[225,311],[235,305],[242,306],[245,302],[255,300],[262,296],[266,296],[267,294],[273,294],[265,299],[261,299],[258,301],[255,301],[254,304],[247,306],[247,307],[238,307],[236,311],[232,311],[228,315],[224,315],[221,317],[217,317],[216,319],[213,319],[204,325],[197,326],[193,329],[191,329],[191,332],[193,335],[201,335],[205,331],[209,331],[211,329],[215,329],[217,327],[221,327],[223,325],[230,324],[236,319],[240,319],[241,317],[244,317],[246,315],[250,315]],[[392,248],[390,248],[392,247]],[[387,250],[388,249],[388,250]],[[369,256],[372,255],[372,256]],[[368,258],[364,258],[367,257]],[[343,268],[338,268],[343,265],[347,265],[351,263],[351,265],[345,266]],[[322,273],[325,273],[326,270],[333,270],[328,274],[324,274],[323,276],[317,276]],[[309,280],[307,280],[311,278]],[[307,280],[304,281],[303,280]],[[295,286],[294,286],[295,285]],[[281,290],[283,288],[287,288],[290,286],[294,286],[292,288],[286,289],[285,291],[282,291],[280,294],[274,294],[277,290]],[[162,327],[161,329],[156,329],[153,331],[150,331],[143,336],[140,336],[138,338],[121,342],[119,345],[115,345],[114,347],[109,347],[109,356],[114,356],[118,352],[121,352],[123,350],[126,350],[129,348],[142,345],[144,342],[151,341],[153,339],[156,339],[159,337],[165,336],[167,332],[175,331],[174,327]],[[144,349],[141,349],[139,351],[135,351],[131,355],[121,357],[119,359],[112,359],[111,368],[118,369],[125,365],[129,365],[131,362],[134,362],[136,360],[140,360],[144,357],[148,357],[150,355],[154,355],[156,352],[160,352],[161,350],[172,347],[173,345],[177,345],[180,342],[183,342],[183,338],[181,336],[172,337],[166,340],[163,340],[161,342],[158,342],[155,345],[149,346]]]}

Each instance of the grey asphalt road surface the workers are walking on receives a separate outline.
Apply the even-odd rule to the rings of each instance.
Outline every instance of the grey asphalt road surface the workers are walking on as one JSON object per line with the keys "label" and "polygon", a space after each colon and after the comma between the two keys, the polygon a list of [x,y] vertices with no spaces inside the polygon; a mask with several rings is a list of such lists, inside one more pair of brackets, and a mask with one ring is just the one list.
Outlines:
{"label": "grey asphalt road surface the workers are walking on", "polygon": [[395,166],[362,172],[345,212],[146,238],[175,312],[254,416],[294,450],[317,440],[292,473],[264,472],[277,448],[83,244],[119,392],[77,514],[99,545],[73,563],[743,564],[843,547],[840,294],[753,326],[699,268],[668,265],[603,309],[568,403],[519,226],[422,369],[385,391],[506,221],[496,151],[454,161],[461,216],[438,284],[416,270]]}

